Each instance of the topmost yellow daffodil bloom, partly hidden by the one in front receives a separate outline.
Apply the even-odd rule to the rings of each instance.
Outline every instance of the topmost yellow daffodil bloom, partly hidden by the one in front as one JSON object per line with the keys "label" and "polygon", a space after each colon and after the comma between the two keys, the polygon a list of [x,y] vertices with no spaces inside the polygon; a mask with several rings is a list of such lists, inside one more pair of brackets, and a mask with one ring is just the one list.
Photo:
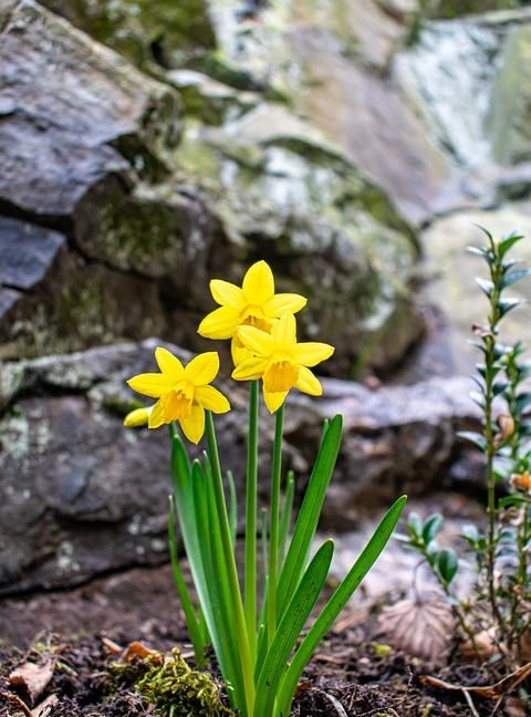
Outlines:
{"label": "topmost yellow daffodil bloom, partly hidden by the one in front", "polygon": [[238,365],[250,354],[238,336],[238,326],[249,325],[269,332],[284,313],[296,313],[306,299],[295,293],[274,293],[273,272],[266,261],[257,261],[243,277],[241,288],[229,281],[212,279],[210,291],[220,304],[199,324],[206,339],[232,339],[232,358]]}

